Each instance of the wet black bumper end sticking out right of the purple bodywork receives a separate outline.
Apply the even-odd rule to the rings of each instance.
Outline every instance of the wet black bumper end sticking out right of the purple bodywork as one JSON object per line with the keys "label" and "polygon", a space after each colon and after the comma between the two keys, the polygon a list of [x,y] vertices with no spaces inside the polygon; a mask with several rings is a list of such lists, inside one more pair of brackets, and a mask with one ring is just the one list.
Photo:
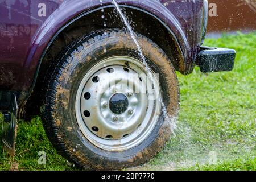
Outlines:
{"label": "wet black bumper end sticking out right of the purple bodywork", "polygon": [[196,57],[196,64],[203,73],[232,71],[236,51],[226,48],[202,46]]}

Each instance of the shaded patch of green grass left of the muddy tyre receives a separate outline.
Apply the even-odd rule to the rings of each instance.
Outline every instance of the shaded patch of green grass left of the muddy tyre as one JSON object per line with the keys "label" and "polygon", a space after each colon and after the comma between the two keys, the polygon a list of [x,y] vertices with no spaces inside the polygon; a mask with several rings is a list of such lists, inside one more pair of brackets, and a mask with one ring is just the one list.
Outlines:
{"label": "shaded patch of green grass left of the muddy tyre", "polygon": [[[46,165],[38,164],[39,151],[46,152]],[[9,170],[11,163],[18,163],[19,170],[75,169],[52,147],[39,117],[32,119],[31,122],[18,122],[16,155],[14,158],[11,158],[6,152],[0,151],[0,170]]]}

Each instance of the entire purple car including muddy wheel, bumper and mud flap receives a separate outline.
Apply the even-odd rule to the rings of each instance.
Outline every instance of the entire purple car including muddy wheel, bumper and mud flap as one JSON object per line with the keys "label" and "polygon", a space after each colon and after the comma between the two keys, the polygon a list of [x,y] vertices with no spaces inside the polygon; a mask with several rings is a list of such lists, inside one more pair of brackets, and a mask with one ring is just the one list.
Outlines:
{"label": "entire purple car including muddy wheel, bumper and mud flap", "polygon": [[234,50],[202,46],[207,19],[207,0],[0,0],[5,149],[22,110],[79,167],[146,163],[175,129],[175,71],[233,69]]}

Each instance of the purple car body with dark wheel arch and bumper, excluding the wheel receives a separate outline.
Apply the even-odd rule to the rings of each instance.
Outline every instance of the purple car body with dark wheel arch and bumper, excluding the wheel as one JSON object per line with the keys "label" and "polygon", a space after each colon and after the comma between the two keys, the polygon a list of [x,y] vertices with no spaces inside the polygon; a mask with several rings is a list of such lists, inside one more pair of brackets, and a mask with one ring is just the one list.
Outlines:
{"label": "purple car body with dark wheel arch and bumper, excluding the wheel", "polygon": [[[196,64],[203,72],[233,69],[233,50],[201,47],[207,28],[206,0],[117,2],[134,31],[174,57],[176,71],[189,74]],[[100,28],[123,28],[115,14],[112,0],[0,1],[0,110],[7,113],[6,120],[11,120],[8,112],[16,118],[17,107],[26,104],[33,90],[40,92],[36,85],[42,84],[52,60],[73,40]]]}

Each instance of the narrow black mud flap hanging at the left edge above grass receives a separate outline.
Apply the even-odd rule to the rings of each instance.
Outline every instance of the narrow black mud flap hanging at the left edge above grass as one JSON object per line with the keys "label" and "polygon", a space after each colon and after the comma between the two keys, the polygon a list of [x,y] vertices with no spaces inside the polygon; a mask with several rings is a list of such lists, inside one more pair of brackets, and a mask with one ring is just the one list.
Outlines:
{"label": "narrow black mud flap hanging at the left edge above grass", "polygon": [[4,149],[9,152],[11,156],[15,155],[15,143],[16,143],[16,132],[17,132],[17,114],[18,105],[16,96],[11,96],[11,102],[9,111],[3,113],[3,144]]}

